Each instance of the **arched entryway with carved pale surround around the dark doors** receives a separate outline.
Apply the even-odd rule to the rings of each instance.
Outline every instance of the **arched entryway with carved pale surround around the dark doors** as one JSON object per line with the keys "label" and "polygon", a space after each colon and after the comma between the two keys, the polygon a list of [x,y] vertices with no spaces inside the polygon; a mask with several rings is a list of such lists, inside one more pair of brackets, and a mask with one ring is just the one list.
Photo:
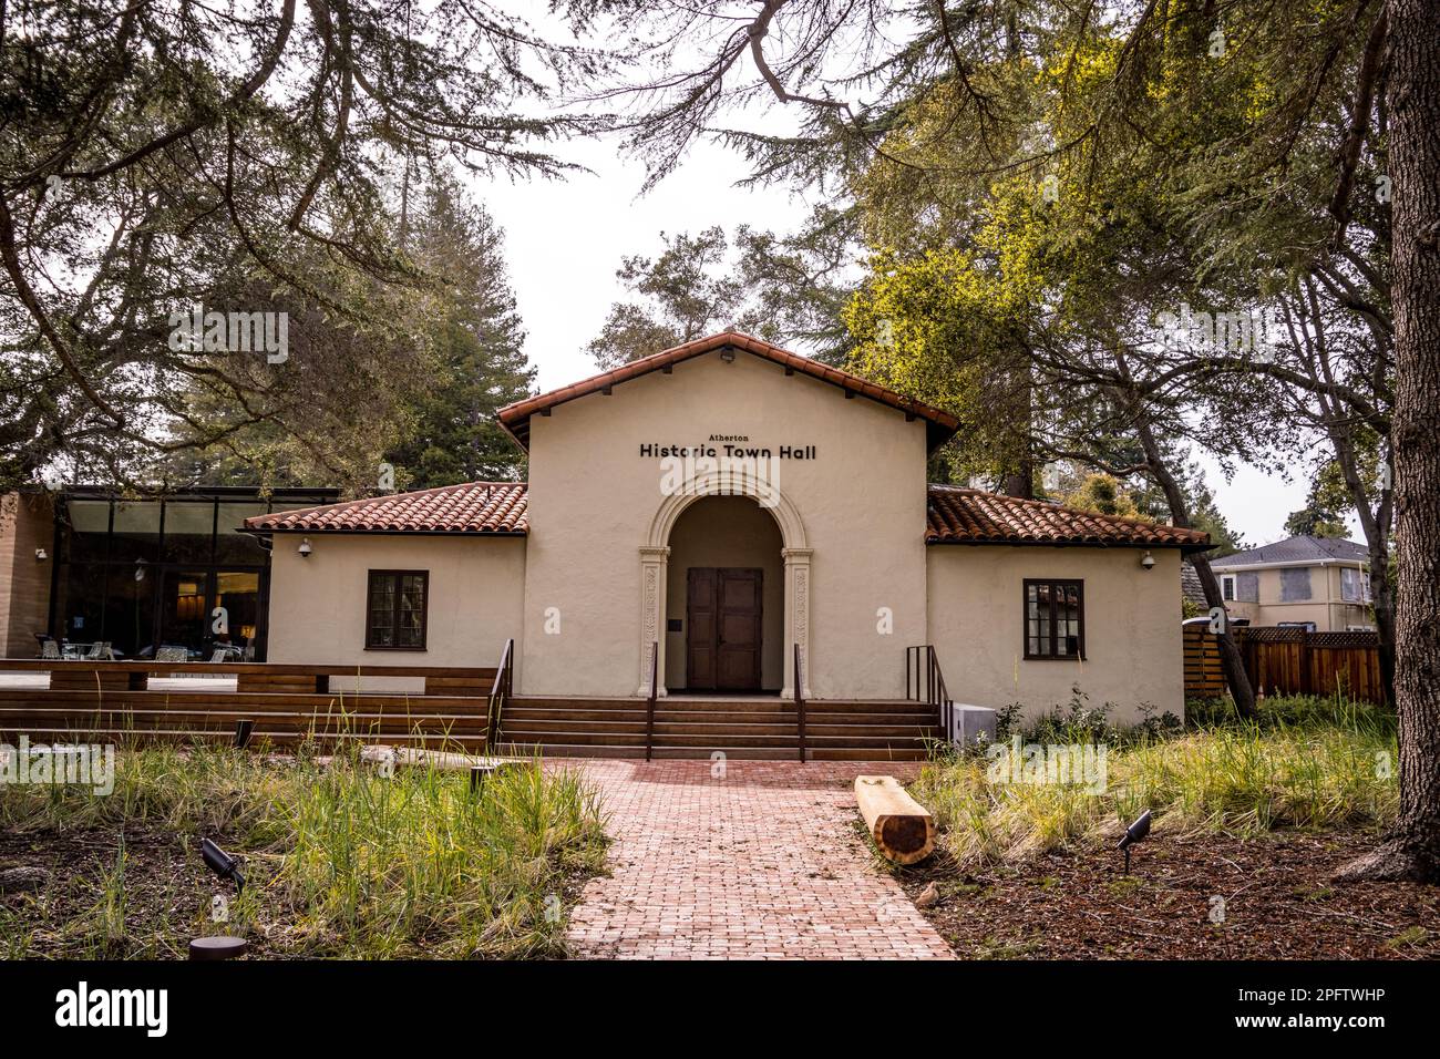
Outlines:
{"label": "arched entryway with carved pale surround around the dark doors", "polygon": [[[730,615],[737,630],[744,625],[747,598],[760,611],[755,690],[773,693],[779,687],[783,697],[792,697],[795,645],[799,645],[809,694],[811,549],[805,524],[788,497],[768,483],[733,475],[723,483],[696,478],[664,497],[639,553],[639,694],[651,693],[652,656],[660,676],[657,694],[696,686],[690,670],[704,669],[706,661],[690,654],[691,621],[716,617],[698,614],[696,605],[703,608],[707,598],[723,604],[727,586],[730,602],[739,608]],[[691,571],[703,571],[700,584],[693,585]],[[671,620],[678,620],[678,630],[668,631],[674,628]],[[742,631],[739,638],[743,635]],[[700,686],[732,690],[727,686],[739,683],[744,651],[711,661],[714,669],[703,674]]]}

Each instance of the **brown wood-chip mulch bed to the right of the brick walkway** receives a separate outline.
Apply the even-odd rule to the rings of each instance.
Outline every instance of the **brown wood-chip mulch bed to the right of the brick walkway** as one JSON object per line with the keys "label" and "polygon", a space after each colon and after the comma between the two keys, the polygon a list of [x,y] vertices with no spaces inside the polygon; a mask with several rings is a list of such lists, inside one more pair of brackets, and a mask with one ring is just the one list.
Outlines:
{"label": "brown wood-chip mulch bed to the right of the brick walkway", "polygon": [[912,899],[936,885],[939,903],[922,913],[962,958],[1440,958],[1440,886],[1331,880],[1372,844],[1351,833],[1156,834],[1129,876],[1122,854],[1094,846],[979,872],[937,860],[900,882]]}

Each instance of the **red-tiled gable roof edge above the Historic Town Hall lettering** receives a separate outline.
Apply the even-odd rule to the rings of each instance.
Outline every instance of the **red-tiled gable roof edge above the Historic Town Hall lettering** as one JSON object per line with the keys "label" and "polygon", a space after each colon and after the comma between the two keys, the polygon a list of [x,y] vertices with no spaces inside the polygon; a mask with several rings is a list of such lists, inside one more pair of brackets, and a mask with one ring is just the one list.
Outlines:
{"label": "red-tiled gable roof edge above the Historic Town Hall lettering", "polygon": [[913,398],[901,396],[900,393],[886,389],[884,386],[867,382],[858,375],[841,372],[838,367],[822,365],[814,357],[804,357],[799,353],[791,353],[789,350],[772,346],[768,341],[762,341],[760,339],[740,331],[720,331],[720,334],[711,334],[706,339],[687,341],[684,346],[675,346],[674,349],[652,353],[648,357],[632,360],[628,365],[622,365],[609,372],[602,372],[600,375],[572,383],[570,386],[562,386],[557,390],[550,390],[549,393],[540,393],[539,396],[526,398],[524,401],[517,401],[513,405],[505,405],[505,408],[501,408],[495,415],[500,418],[500,425],[510,431],[510,435],[518,441],[523,448],[528,448],[530,416],[536,412],[549,412],[552,408],[563,405],[566,401],[575,401],[576,398],[583,398],[588,393],[599,393],[600,390],[609,389],[615,383],[626,382],[641,375],[649,375],[651,372],[662,367],[678,365],[681,360],[690,360],[691,357],[698,357],[704,353],[724,349],[726,346],[744,350],[746,353],[753,353],[755,356],[770,360],[772,363],[783,365],[786,369],[792,369],[814,379],[840,386],[847,393],[858,393],[860,396],[870,398],[871,401],[878,401],[881,405],[897,408],[907,416],[924,419],[926,437],[932,451],[949,441],[955,431],[960,426],[960,421],[945,409],[926,405],[920,401],[914,401]]}

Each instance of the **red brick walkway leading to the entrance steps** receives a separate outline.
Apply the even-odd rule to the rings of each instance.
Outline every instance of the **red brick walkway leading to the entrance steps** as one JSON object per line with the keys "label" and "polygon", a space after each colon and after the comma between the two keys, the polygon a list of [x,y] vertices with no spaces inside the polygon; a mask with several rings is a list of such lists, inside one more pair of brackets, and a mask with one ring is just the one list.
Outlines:
{"label": "red brick walkway leading to the entrance steps", "polygon": [[582,957],[949,958],[873,862],[854,778],[903,762],[567,761],[600,788],[609,877],[570,916]]}

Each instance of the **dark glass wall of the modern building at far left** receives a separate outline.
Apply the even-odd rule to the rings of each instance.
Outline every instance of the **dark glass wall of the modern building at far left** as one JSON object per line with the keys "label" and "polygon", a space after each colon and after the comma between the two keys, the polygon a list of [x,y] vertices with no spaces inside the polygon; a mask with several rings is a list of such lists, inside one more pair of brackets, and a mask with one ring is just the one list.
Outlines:
{"label": "dark glass wall of the modern building at far left", "polygon": [[120,499],[69,493],[56,506],[50,633],[117,657],[264,661],[269,552],[245,519],[334,503],[337,490],[255,490]]}

